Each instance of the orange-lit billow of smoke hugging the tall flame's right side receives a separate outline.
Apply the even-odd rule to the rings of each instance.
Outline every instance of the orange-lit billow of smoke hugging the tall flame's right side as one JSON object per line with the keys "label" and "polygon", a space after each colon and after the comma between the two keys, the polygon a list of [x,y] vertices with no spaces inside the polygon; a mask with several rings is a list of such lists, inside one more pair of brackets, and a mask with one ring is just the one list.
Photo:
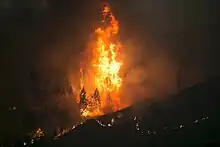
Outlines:
{"label": "orange-lit billow of smoke hugging the tall flame's right side", "polygon": [[164,46],[152,42],[142,44],[137,40],[123,43],[123,100],[137,102],[177,92],[178,67],[163,51]]}

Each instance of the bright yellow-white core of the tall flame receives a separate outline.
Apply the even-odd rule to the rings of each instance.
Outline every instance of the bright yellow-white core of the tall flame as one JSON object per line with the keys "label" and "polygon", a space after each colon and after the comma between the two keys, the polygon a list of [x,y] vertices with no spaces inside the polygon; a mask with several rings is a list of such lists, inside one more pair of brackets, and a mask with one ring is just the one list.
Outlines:
{"label": "bright yellow-white core of the tall flame", "polygon": [[95,85],[100,91],[112,92],[118,90],[121,86],[122,79],[119,76],[119,70],[122,65],[116,60],[117,46],[115,44],[106,44],[102,38],[99,38],[97,54],[93,64],[96,68]]}

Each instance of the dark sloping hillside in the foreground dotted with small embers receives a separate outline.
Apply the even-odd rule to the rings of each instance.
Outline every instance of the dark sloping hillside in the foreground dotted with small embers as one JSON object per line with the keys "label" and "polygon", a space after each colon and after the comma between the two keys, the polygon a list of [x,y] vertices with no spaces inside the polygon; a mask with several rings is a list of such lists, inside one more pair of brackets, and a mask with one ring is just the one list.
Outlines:
{"label": "dark sloping hillside in the foreground dotted with small embers", "polygon": [[168,99],[88,120],[56,140],[42,138],[31,146],[220,146],[219,98],[219,80],[210,80]]}

